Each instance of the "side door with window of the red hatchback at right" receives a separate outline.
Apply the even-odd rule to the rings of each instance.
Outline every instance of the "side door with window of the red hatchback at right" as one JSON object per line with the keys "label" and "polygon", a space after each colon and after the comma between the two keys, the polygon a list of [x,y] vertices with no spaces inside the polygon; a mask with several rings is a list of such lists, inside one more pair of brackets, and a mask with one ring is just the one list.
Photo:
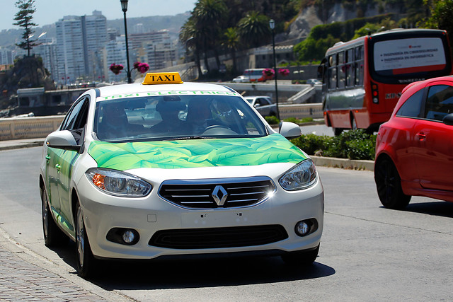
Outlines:
{"label": "side door with window of the red hatchback at right", "polygon": [[442,122],[452,112],[451,83],[437,82],[428,87],[422,118],[415,123],[412,134],[413,156],[422,187],[453,190],[453,127]]}

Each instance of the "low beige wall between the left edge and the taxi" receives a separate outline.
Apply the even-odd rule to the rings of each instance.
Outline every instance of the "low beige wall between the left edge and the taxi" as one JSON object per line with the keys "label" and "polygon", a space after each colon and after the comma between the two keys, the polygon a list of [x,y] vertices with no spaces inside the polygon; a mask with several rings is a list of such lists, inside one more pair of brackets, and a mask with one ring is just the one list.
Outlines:
{"label": "low beige wall between the left edge and the taxi", "polygon": [[62,123],[63,115],[48,117],[8,117],[0,119],[0,141],[47,137]]}

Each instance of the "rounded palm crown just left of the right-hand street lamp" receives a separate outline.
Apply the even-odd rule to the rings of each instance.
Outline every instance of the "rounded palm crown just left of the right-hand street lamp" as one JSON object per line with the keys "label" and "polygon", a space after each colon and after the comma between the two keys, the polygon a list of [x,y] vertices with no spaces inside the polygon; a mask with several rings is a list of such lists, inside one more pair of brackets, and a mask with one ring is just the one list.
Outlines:
{"label": "rounded palm crown just left of the right-hand street lamp", "polygon": [[271,36],[269,18],[258,11],[250,11],[238,23],[241,40],[248,46],[258,47]]}

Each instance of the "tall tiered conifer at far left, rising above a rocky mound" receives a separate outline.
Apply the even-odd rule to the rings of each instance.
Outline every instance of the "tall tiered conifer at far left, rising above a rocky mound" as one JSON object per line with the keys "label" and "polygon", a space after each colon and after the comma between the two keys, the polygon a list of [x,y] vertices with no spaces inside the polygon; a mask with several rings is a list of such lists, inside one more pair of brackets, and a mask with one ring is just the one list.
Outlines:
{"label": "tall tiered conifer at far left, rising above a rocky mound", "polygon": [[19,8],[19,11],[16,13],[14,20],[16,23],[13,25],[18,25],[23,28],[22,42],[16,44],[18,47],[21,47],[23,50],[27,50],[27,56],[30,57],[30,50],[35,47],[36,40],[31,40],[34,30],[33,27],[38,26],[38,24],[33,23],[33,13],[35,13],[35,0],[18,0],[16,2],[16,7]]}

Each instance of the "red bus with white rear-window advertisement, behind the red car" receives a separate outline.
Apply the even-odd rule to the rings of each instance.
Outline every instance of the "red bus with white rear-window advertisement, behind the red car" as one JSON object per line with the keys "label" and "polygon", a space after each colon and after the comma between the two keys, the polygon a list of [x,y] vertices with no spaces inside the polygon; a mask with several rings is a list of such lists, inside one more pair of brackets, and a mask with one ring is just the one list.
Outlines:
{"label": "red bus with white rear-window advertisement, behind the red car", "polygon": [[428,29],[387,30],[338,42],[319,70],[324,121],[336,135],[344,129],[377,131],[408,83],[453,73],[447,32]]}

